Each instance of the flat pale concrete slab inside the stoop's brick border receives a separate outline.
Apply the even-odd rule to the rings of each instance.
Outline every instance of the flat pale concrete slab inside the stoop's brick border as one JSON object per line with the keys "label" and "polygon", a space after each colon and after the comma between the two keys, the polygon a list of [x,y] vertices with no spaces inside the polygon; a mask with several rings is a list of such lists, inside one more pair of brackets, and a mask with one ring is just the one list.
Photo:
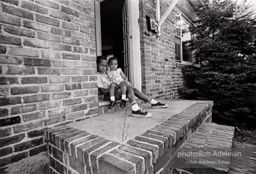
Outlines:
{"label": "flat pale concrete slab inside the stoop's brick border", "polygon": [[67,125],[85,130],[88,133],[98,135],[110,141],[116,141],[123,145],[130,139],[142,135],[146,130],[158,126],[168,118],[171,118],[197,103],[197,101],[184,100],[162,102],[167,104],[168,107],[163,109],[151,109],[149,103],[140,105],[140,107],[152,114],[151,118],[131,117],[131,107],[127,107],[122,110]]}

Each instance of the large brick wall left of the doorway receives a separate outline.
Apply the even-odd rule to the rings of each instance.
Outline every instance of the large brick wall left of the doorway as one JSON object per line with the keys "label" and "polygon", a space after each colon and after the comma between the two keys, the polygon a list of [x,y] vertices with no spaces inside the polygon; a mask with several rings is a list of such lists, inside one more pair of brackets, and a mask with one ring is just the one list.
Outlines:
{"label": "large brick wall left of the doorway", "polygon": [[0,1],[0,167],[97,114],[94,16],[93,0]]}

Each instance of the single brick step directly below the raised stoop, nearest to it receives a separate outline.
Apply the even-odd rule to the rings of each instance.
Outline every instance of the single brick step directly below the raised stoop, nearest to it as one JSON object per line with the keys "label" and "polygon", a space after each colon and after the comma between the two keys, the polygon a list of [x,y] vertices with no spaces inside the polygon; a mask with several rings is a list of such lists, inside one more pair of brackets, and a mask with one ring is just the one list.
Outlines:
{"label": "single brick step directly below the raised stoop, nearest to it", "polygon": [[228,173],[231,157],[227,153],[233,150],[233,138],[234,127],[204,122],[165,168],[175,167],[183,173]]}

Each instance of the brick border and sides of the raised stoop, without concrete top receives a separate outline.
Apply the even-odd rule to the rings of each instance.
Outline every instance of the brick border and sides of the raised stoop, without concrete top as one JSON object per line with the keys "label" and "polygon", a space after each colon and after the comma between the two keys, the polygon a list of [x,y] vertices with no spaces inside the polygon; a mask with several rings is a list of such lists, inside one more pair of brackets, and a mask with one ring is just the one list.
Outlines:
{"label": "brick border and sides of the raised stoop, without concrete top", "polygon": [[153,174],[170,159],[205,121],[211,101],[198,101],[125,144],[110,141],[75,126],[46,131],[51,173]]}

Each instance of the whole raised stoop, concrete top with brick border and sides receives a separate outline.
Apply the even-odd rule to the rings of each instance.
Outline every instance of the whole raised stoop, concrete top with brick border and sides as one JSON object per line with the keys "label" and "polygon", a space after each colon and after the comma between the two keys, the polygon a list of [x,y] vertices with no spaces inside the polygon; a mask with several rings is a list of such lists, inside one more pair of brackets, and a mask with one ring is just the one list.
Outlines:
{"label": "whole raised stoop, concrete top with brick border and sides", "polygon": [[[165,103],[169,105],[166,111],[150,109],[148,104],[143,106],[153,118],[113,113],[47,130],[50,171],[157,173],[170,160],[172,149],[185,143],[212,116],[212,101]],[[129,113],[129,109],[126,112]]]}

